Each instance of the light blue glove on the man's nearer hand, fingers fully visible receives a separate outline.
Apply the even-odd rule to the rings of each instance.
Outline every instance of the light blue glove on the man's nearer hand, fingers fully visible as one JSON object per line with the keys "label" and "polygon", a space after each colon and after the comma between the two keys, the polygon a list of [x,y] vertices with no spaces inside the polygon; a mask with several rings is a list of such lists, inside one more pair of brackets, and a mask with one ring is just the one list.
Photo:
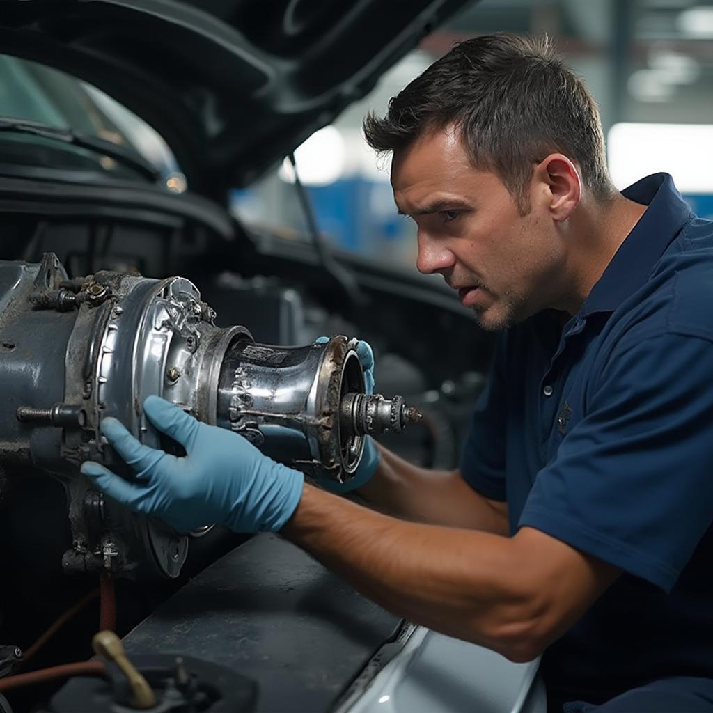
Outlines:
{"label": "light blue glove on the man's nearer hand, fingers fully visible", "polygon": [[108,496],[178,532],[220,523],[241,533],[277,532],[302,496],[304,476],[275,463],[232,431],[208,426],[158,396],[143,408],[151,423],[186,451],[177,458],[140,443],[117,419],[101,432],[135,470],[135,482],[86,461],[81,471]]}

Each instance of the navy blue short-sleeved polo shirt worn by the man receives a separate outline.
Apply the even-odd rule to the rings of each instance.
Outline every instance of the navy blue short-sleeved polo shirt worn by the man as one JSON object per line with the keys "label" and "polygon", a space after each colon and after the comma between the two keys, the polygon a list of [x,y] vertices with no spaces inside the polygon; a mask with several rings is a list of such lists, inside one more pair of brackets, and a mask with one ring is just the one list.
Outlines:
{"label": "navy blue short-sleeved polo shirt worn by the man", "polygon": [[623,194],[648,208],[578,314],[498,335],[461,461],[513,533],[624,573],[545,654],[574,697],[713,677],[713,223],[667,174]]}

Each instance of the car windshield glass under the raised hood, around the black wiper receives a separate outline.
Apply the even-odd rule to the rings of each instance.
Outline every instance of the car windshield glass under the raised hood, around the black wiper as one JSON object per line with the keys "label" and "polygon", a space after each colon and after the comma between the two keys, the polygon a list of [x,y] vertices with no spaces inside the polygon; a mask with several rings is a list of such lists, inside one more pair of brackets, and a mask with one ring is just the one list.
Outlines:
{"label": "car windshield glass under the raised hood, around the black wiper", "polygon": [[[0,116],[109,141],[153,165],[168,190],[185,190],[173,153],[153,128],[96,87],[61,71],[0,55]],[[51,169],[93,170],[114,178],[138,175],[130,165],[87,148],[12,133],[0,135],[0,140],[5,165],[27,165],[36,157],[36,165]],[[32,151],[13,150],[17,143],[31,146]]]}

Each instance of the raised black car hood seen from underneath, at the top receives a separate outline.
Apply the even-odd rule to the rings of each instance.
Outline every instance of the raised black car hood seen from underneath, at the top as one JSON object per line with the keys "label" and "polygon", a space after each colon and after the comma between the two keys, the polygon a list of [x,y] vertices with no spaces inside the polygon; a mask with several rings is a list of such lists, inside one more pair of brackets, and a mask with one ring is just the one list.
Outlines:
{"label": "raised black car hood seen from underneath, at the top", "polygon": [[251,183],[467,0],[4,2],[0,51],[147,121],[192,190]]}

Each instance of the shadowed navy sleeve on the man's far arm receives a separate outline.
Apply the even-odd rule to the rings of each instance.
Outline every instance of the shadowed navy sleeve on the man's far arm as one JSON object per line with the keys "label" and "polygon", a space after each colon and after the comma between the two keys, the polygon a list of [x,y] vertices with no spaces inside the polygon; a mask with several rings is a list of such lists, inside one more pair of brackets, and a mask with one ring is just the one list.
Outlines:
{"label": "shadowed navy sleeve on the man's far arm", "polygon": [[461,456],[461,475],[473,490],[505,502],[506,334],[498,334],[488,384],[483,389],[471,418]]}

